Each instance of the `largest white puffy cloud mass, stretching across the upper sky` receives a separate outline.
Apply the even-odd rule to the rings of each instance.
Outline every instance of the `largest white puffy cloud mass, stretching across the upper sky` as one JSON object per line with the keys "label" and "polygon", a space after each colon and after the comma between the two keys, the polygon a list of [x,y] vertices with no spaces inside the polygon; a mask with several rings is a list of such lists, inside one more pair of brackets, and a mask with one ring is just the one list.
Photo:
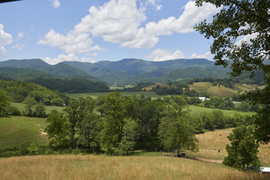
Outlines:
{"label": "largest white puffy cloud mass, stretching across the upper sky", "polygon": [[183,14],[176,19],[169,17],[158,22],[149,22],[145,27],[141,24],[146,21],[146,6],[154,5],[160,10],[159,0],[110,0],[101,6],[91,6],[89,14],[85,15],[74,29],[67,34],[60,34],[50,29],[39,44],[57,46],[67,53],[82,53],[92,50],[101,50],[90,35],[100,36],[104,41],[119,43],[120,47],[151,48],[158,43],[159,35],[171,35],[173,32],[188,33],[193,26],[209,18],[218,9],[205,3],[203,7],[195,7],[195,1],[189,1]]}

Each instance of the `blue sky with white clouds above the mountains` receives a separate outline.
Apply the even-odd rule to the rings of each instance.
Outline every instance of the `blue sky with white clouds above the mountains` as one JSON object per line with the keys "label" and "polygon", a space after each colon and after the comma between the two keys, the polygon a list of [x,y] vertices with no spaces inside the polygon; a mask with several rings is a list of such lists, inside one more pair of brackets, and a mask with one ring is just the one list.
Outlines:
{"label": "blue sky with white clouds above the mountains", "polygon": [[23,0],[0,4],[0,61],[212,60],[194,25],[220,9],[188,0]]}

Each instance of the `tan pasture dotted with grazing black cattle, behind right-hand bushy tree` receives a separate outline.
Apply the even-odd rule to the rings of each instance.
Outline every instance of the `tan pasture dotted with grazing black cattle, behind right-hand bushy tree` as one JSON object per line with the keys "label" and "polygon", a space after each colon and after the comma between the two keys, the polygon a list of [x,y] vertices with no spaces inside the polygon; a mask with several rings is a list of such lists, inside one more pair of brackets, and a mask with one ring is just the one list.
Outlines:
{"label": "tan pasture dotted with grazing black cattle, behind right-hand bushy tree", "polygon": [[[196,137],[199,139],[199,152],[191,153],[186,152],[188,155],[201,157],[201,158],[209,158],[209,159],[217,159],[223,160],[225,156],[227,156],[227,152],[225,150],[226,144],[230,144],[230,141],[227,139],[229,133],[232,133],[232,128],[230,129],[222,129],[216,130],[214,132],[209,131],[205,134],[198,134]],[[221,134],[221,136],[220,136]],[[270,145],[260,145],[259,147],[259,160],[262,164],[266,166],[270,166]],[[214,150],[216,148],[216,150]],[[218,152],[217,150],[220,150]]]}

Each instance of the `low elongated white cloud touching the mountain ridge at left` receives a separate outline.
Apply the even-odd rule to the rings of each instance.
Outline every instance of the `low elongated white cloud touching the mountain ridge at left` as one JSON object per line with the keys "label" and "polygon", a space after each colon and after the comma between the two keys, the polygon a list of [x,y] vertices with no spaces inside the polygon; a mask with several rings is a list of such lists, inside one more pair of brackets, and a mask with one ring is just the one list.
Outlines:
{"label": "low elongated white cloud touching the mountain ridge at left", "polygon": [[81,59],[77,58],[76,55],[74,53],[70,53],[68,55],[64,55],[64,54],[60,54],[57,56],[57,58],[45,58],[44,61],[48,64],[58,64],[59,62],[63,62],[63,61],[80,61],[80,62],[91,62],[94,63],[96,62],[95,59],[91,59],[91,58],[86,58],[86,57],[82,57]]}

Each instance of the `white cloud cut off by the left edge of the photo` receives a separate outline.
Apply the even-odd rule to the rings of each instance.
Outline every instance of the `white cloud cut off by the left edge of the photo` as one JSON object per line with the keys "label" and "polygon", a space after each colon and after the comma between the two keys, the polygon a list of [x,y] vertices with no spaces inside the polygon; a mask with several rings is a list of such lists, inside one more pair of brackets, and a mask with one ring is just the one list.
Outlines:
{"label": "white cloud cut off by the left edge of the photo", "polygon": [[12,41],[12,36],[4,32],[4,26],[0,24],[0,58],[7,56],[8,52],[4,46],[12,43]]}

